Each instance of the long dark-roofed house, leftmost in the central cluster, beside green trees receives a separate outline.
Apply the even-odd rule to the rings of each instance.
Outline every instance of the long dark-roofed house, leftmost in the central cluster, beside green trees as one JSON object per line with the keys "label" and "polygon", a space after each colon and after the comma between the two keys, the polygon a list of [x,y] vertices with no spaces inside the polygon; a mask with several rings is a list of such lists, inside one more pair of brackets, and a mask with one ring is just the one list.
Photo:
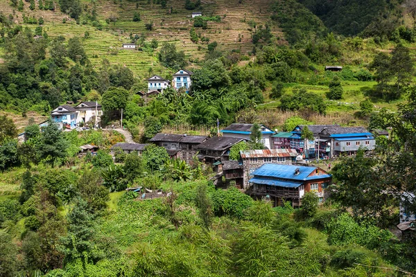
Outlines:
{"label": "long dark-roofed house, leftmost in the central cluster, beside green trees", "polygon": [[189,136],[187,134],[156,134],[150,141],[165,148],[171,157],[180,158],[187,163],[196,155],[196,148],[208,136]]}

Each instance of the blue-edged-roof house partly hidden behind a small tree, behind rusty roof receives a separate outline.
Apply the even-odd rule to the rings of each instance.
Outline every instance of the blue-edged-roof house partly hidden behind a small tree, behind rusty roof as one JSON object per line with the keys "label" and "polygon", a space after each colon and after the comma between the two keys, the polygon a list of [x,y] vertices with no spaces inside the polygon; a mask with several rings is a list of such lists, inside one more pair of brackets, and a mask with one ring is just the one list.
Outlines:
{"label": "blue-edged-roof house partly hidden behind a small tree, behind rusty roof", "polygon": [[[246,141],[250,141],[252,126],[252,124],[232,123],[232,125],[225,127],[224,129],[220,130],[220,132],[223,134],[223,136],[230,136],[233,138],[245,139]],[[271,149],[272,139],[270,139],[270,136],[272,136],[272,134],[274,134],[275,132],[264,125],[260,125],[260,130],[261,143],[263,143],[265,148]]]}

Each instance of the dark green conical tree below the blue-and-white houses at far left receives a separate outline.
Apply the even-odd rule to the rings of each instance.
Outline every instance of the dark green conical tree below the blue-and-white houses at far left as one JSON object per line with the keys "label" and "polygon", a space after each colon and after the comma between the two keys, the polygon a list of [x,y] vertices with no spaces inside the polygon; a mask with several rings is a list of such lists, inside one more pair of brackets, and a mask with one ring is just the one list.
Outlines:
{"label": "dark green conical tree below the blue-and-white houses at far left", "polygon": [[58,159],[67,157],[67,145],[58,125],[49,120],[48,125],[42,128],[40,143],[37,145],[40,159],[54,163]]}

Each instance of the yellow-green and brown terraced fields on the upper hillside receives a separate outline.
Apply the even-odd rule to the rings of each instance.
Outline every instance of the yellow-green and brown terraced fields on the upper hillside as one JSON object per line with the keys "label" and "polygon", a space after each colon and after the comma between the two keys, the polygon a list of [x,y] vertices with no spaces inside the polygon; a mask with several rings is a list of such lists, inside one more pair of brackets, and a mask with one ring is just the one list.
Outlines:
{"label": "yellow-green and brown terraced fields on the upper hillside", "polygon": [[[208,37],[210,42],[218,42],[220,51],[240,50],[242,53],[252,51],[252,30],[248,21],[267,22],[270,18],[270,5],[274,0],[207,0],[202,1],[203,15],[220,15],[221,22],[209,22],[207,30],[197,28],[197,33]],[[116,3],[114,3],[116,2]],[[60,12],[58,4],[55,11],[30,10],[29,3],[24,1],[24,11],[19,12],[10,7],[7,0],[0,0],[0,10],[5,14],[13,14],[16,23],[22,24],[23,17],[44,18],[44,30],[49,37],[63,35],[66,38],[73,36],[83,37],[85,31],[89,32],[89,38],[84,39],[84,46],[89,59],[95,66],[99,66],[105,58],[112,64],[128,66],[139,78],[147,78],[150,68],[152,73],[162,74],[167,69],[159,65],[157,53],[146,53],[142,51],[130,51],[121,49],[121,44],[130,42],[130,32],[139,36],[145,35],[146,41],[157,39],[159,46],[162,42],[173,42],[178,49],[183,50],[193,62],[201,60],[205,53],[208,42],[195,44],[191,42],[189,30],[193,26],[191,10],[184,8],[184,0],[169,0],[167,7],[162,8],[152,1],[140,1],[138,8],[135,2],[98,0],[96,6],[98,17],[103,25],[103,30],[97,30],[90,25],[76,24],[75,20]],[[83,5],[91,8],[90,1],[83,1]],[[173,8],[171,10],[170,8]],[[141,21],[134,22],[134,12],[140,12]],[[169,13],[172,11],[171,13]],[[115,24],[107,24],[105,19],[110,15],[117,17]],[[65,24],[62,19],[67,19]],[[148,31],[145,24],[153,21],[153,30]],[[271,22],[270,22],[271,24]],[[33,30],[37,25],[27,24]],[[277,43],[285,43],[279,28],[272,25]],[[200,50],[198,50],[198,48]],[[1,59],[1,49],[0,49]],[[0,60],[1,62],[2,60]],[[196,64],[191,64],[193,68]]]}

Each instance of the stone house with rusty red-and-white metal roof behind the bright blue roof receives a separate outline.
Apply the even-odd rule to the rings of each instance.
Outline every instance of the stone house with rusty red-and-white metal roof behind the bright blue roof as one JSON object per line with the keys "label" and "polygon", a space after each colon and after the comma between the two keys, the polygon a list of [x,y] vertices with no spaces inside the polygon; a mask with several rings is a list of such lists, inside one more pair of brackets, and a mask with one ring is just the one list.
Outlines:
{"label": "stone house with rusty red-and-white metal roof behind the bright blue roof", "polygon": [[286,163],[296,162],[297,152],[294,149],[272,149],[272,150],[245,150],[240,151],[243,163],[244,188],[248,188],[248,180],[252,178],[254,170],[264,163]]}

